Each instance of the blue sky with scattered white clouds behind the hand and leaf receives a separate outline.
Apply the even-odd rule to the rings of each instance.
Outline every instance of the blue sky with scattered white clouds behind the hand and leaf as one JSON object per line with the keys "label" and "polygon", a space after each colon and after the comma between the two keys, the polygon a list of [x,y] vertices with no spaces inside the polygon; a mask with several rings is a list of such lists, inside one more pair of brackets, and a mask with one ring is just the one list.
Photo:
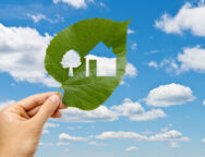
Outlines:
{"label": "blue sky with scattered white clouds behind the hand and leaf", "polygon": [[45,50],[91,17],[132,19],[126,74],[98,109],[49,120],[36,157],[204,157],[204,1],[1,0],[0,108],[58,90]]}

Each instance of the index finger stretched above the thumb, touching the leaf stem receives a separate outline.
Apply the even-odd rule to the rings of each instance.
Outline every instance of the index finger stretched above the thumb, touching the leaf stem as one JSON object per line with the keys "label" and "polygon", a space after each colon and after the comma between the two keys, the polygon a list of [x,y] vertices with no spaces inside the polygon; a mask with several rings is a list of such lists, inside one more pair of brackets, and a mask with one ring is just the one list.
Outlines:
{"label": "index finger stretched above the thumb, touching the leaf stem", "polygon": [[[35,108],[36,106],[43,105],[46,99],[48,99],[50,96],[56,95],[57,93],[43,93],[29,96],[25,99],[20,100],[17,104],[22,106],[25,110],[31,110]],[[61,94],[59,95],[61,98]]]}

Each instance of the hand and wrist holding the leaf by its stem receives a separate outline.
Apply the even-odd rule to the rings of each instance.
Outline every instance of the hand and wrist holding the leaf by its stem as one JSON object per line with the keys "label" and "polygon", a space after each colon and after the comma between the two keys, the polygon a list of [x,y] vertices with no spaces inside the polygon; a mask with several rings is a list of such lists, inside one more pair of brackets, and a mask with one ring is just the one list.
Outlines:
{"label": "hand and wrist holding the leaf by its stem", "polygon": [[45,122],[60,118],[61,95],[45,93],[29,96],[0,111],[0,156],[32,157]]}

